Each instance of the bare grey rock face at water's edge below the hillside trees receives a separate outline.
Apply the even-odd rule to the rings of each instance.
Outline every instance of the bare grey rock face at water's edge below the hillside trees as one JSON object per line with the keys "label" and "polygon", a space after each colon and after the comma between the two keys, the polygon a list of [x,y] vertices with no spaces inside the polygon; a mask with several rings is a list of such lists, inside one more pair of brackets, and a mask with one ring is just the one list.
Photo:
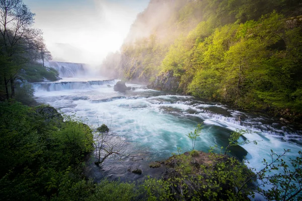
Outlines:
{"label": "bare grey rock face at water's edge below the hillside trees", "polygon": [[170,90],[177,91],[179,86],[179,78],[173,76],[172,70],[162,72],[156,77],[155,81],[148,85],[148,88],[154,88],[158,90]]}

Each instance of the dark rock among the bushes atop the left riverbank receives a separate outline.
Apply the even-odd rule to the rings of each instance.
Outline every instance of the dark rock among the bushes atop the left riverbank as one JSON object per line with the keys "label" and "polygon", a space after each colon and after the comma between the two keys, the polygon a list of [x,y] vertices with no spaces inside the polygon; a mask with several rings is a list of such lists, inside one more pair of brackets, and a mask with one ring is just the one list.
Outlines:
{"label": "dark rock among the bushes atop the left riverbank", "polygon": [[38,115],[41,115],[45,121],[57,121],[57,122],[63,122],[64,118],[63,116],[58,113],[58,111],[51,107],[51,106],[39,106],[36,109],[36,113]]}

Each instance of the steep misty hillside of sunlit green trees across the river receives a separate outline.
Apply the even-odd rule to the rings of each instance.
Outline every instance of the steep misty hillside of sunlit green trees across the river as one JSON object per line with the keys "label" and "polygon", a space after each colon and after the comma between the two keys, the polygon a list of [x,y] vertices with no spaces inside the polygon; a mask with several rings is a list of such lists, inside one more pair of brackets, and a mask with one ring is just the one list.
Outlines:
{"label": "steep misty hillside of sunlit green trees across the river", "polygon": [[107,67],[155,89],[298,120],[301,15],[290,0],[150,1]]}

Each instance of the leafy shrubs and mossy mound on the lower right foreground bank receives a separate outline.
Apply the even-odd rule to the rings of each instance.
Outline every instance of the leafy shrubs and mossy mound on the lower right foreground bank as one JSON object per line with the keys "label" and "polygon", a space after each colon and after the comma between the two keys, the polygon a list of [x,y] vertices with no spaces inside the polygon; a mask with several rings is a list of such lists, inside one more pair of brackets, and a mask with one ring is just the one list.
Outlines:
{"label": "leafy shrubs and mossy mound on the lower right foreground bank", "polygon": [[[232,133],[228,148],[240,144],[238,140],[245,132]],[[186,152],[170,157],[166,161],[169,171],[162,179],[145,180],[148,200],[250,200],[255,192],[266,200],[302,198],[302,152],[290,160],[290,168],[282,159],[290,150],[281,155],[271,151],[271,161],[264,159],[264,167],[256,171],[216,150],[217,146],[211,147],[209,153]],[[265,190],[264,186],[271,188]]]}

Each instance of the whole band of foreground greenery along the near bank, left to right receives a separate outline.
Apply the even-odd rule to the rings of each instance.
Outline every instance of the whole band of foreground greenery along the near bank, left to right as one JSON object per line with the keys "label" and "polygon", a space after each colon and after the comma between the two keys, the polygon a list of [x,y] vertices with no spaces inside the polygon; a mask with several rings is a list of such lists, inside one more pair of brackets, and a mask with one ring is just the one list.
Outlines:
{"label": "whole band of foreground greenery along the near bank, left to right", "polygon": [[[209,153],[193,149],[184,154],[178,148],[178,154],[165,162],[167,171],[162,179],[148,178],[143,184],[94,183],[83,176],[84,158],[98,142],[106,143],[96,146],[97,152],[104,151],[103,161],[114,154],[115,147],[104,138],[108,132],[99,132],[103,141],[98,135],[93,138],[89,126],[74,117],[61,116],[50,106],[30,108],[1,102],[0,111],[0,196],[4,200],[248,200],[254,192],[268,200],[302,196],[302,153],[289,165],[282,159],[289,150],[281,155],[272,151],[272,160],[264,159],[263,169],[256,171],[222,154],[222,147],[220,153],[212,147]],[[200,125],[195,131],[201,132]],[[239,142],[246,132],[232,133],[224,153],[231,146],[249,143]],[[155,163],[150,168],[160,166]],[[132,172],[142,173],[140,169]],[[255,183],[257,179],[260,182]],[[266,185],[271,188],[263,189]]]}

